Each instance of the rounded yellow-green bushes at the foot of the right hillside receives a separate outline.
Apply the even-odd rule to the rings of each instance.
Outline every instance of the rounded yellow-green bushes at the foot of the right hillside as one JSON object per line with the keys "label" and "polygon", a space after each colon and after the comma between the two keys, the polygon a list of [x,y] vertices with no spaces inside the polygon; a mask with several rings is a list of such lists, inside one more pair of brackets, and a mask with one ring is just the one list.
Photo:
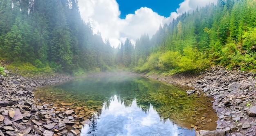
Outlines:
{"label": "rounded yellow-green bushes at the foot of the right hillside", "polygon": [[197,48],[186,46],[183,54],[178,51],[152,53],[146,63],[139,67],[140,72],[157,71],[164,75],[173,75],[177,72],[202,70],[210,66],[210,61]]}

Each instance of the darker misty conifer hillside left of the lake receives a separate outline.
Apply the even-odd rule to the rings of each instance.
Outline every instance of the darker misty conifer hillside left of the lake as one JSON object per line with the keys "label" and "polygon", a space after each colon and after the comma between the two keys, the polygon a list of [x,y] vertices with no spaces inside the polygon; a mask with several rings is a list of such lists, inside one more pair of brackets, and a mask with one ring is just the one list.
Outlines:
{"label": "darker misty conifer hillside left of the lake", "polygon": [[0,0],[0,58],[71,73],[106,70],[114,48],[91,27],[77,0]]}

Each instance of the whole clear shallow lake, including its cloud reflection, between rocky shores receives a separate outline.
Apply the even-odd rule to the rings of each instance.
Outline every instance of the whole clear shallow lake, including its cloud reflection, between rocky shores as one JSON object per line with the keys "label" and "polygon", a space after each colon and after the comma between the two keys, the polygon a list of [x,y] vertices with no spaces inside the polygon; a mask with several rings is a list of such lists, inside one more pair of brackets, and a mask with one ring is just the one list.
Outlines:
{"label": "whole clear shallow lake, including its cloud reflection, between rocky shores", "polygon": [[[54,103],[83,107],[79,116],[97,111],[92,126],[81,136],[193,136],[195,130],[215,130],[217,116],[210,97],[188,95],[180,87],[129,74],[84,77],[39,88],[35,97]],[[95,115],[96,116],[96,115]],[[92,120],[92,119],[91,119]]]}

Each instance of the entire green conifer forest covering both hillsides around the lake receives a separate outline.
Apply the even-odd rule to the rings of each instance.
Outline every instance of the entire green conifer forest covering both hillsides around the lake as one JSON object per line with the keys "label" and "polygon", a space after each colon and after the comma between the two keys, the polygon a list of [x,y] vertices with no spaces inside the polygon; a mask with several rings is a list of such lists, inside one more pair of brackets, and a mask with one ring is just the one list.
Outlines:
{"label": "entire green conifer forest covering both hillsides around the lake", "polygon": [[77,0],[1,0],[0,52],[8,63],[69,73],[129,68],[169,75],[212,65],[255,71],[256,1],[218,0],[159,26],[152,38],[113,48],[81,19]]}

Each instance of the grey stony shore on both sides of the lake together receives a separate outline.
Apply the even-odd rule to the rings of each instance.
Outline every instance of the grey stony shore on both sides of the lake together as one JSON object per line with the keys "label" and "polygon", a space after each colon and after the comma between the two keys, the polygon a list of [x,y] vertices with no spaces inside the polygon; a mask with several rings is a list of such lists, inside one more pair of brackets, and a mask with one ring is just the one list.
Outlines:
{"label": "grey stony shore on both sides of the lake together", "polygon": [[[6,77],[0,76],[0,136],[73,136],[81,133],[83,125],[90,124],[89,116],[77,114],[84,110],[83,107],[75,107],[72,103],[56,105],[34,98],[35,88],[63,83],[73,77],[59,74],[25,78],[7,70],[6,74]],[[102,73],[87,77],[100,75]],[[252,117],[256,116],[253,113],[256,108],[255,76],[252,72],[215,66],[198,74],[147,77],[189,86],[197,93],[213,97],[213,108],[219,117],[216,130],[225,131],[226,136],[251,136],[256,135],[255,117]]]}

